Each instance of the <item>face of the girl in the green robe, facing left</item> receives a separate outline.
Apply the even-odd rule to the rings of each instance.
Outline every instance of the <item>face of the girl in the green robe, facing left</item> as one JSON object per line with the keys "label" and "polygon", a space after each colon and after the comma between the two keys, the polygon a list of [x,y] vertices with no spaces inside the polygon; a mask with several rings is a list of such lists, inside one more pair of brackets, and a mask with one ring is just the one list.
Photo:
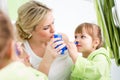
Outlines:
{"label": "face of the girl in the green robe, facing left", "polygon": [[78,52],[81,52],[83,54],[90,54],[92,52],[92,37],[84,29],[82,33],[75,34],[75,41],[78,42],[78,44],[76,45]]}

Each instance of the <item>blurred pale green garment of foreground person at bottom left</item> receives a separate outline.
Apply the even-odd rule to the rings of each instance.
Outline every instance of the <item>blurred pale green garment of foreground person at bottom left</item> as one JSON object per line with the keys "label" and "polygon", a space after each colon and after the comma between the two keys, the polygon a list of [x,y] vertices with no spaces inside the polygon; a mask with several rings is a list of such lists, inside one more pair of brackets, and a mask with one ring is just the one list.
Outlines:
{"label": "blurred pale green garment of foreground person at bottom left", "polygon": [[0,70],[0,80],[48,80],[47,76],[20,61],[12,62]]}

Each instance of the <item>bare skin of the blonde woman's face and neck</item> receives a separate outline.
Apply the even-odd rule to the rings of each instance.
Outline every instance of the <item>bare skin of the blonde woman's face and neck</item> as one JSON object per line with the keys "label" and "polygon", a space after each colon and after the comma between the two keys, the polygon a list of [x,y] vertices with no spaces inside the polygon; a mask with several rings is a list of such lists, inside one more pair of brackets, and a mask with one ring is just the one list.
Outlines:
{"label": "bare skin of the blonde woman's face and neck", "polygon": [[49,12],[44,20],[35,27],[31,39],[28,40],[37,56],[44,56],[47,42],[53,38],[54,32],[54,18],[52,12]]}

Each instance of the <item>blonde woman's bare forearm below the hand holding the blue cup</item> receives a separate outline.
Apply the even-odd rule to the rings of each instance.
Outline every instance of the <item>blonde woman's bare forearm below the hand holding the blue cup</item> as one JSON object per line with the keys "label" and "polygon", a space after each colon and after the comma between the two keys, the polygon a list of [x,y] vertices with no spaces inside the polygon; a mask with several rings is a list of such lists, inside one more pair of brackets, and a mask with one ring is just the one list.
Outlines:
{"label": "blonde woman's bare forearm below the hand holding the blue cup", "polygon": [[48,75],[50,66],[53,63],[54,59],[56,59],[56,57],[58,55],[59,54],[55,51],[55,49],[51,47],[51,43],[49,43],[47,45],[47,48],[46,48],[45,54],[43,56],[43,59],[40,62],[39,71]]}

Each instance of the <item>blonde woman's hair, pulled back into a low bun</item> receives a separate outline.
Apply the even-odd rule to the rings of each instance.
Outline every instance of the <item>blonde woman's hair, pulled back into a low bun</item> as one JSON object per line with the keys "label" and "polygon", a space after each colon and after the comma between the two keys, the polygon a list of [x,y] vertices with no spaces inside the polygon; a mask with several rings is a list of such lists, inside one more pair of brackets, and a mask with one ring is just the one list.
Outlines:
{"label": "blonde woman's hair, pulled back into a low bun", "polygon": [[16,21],[18,39],[29,39],[31,31],[35,29],[50,11],[50,8],[37,1],[29,1],[23,4],[18,9],[18,19]]}

